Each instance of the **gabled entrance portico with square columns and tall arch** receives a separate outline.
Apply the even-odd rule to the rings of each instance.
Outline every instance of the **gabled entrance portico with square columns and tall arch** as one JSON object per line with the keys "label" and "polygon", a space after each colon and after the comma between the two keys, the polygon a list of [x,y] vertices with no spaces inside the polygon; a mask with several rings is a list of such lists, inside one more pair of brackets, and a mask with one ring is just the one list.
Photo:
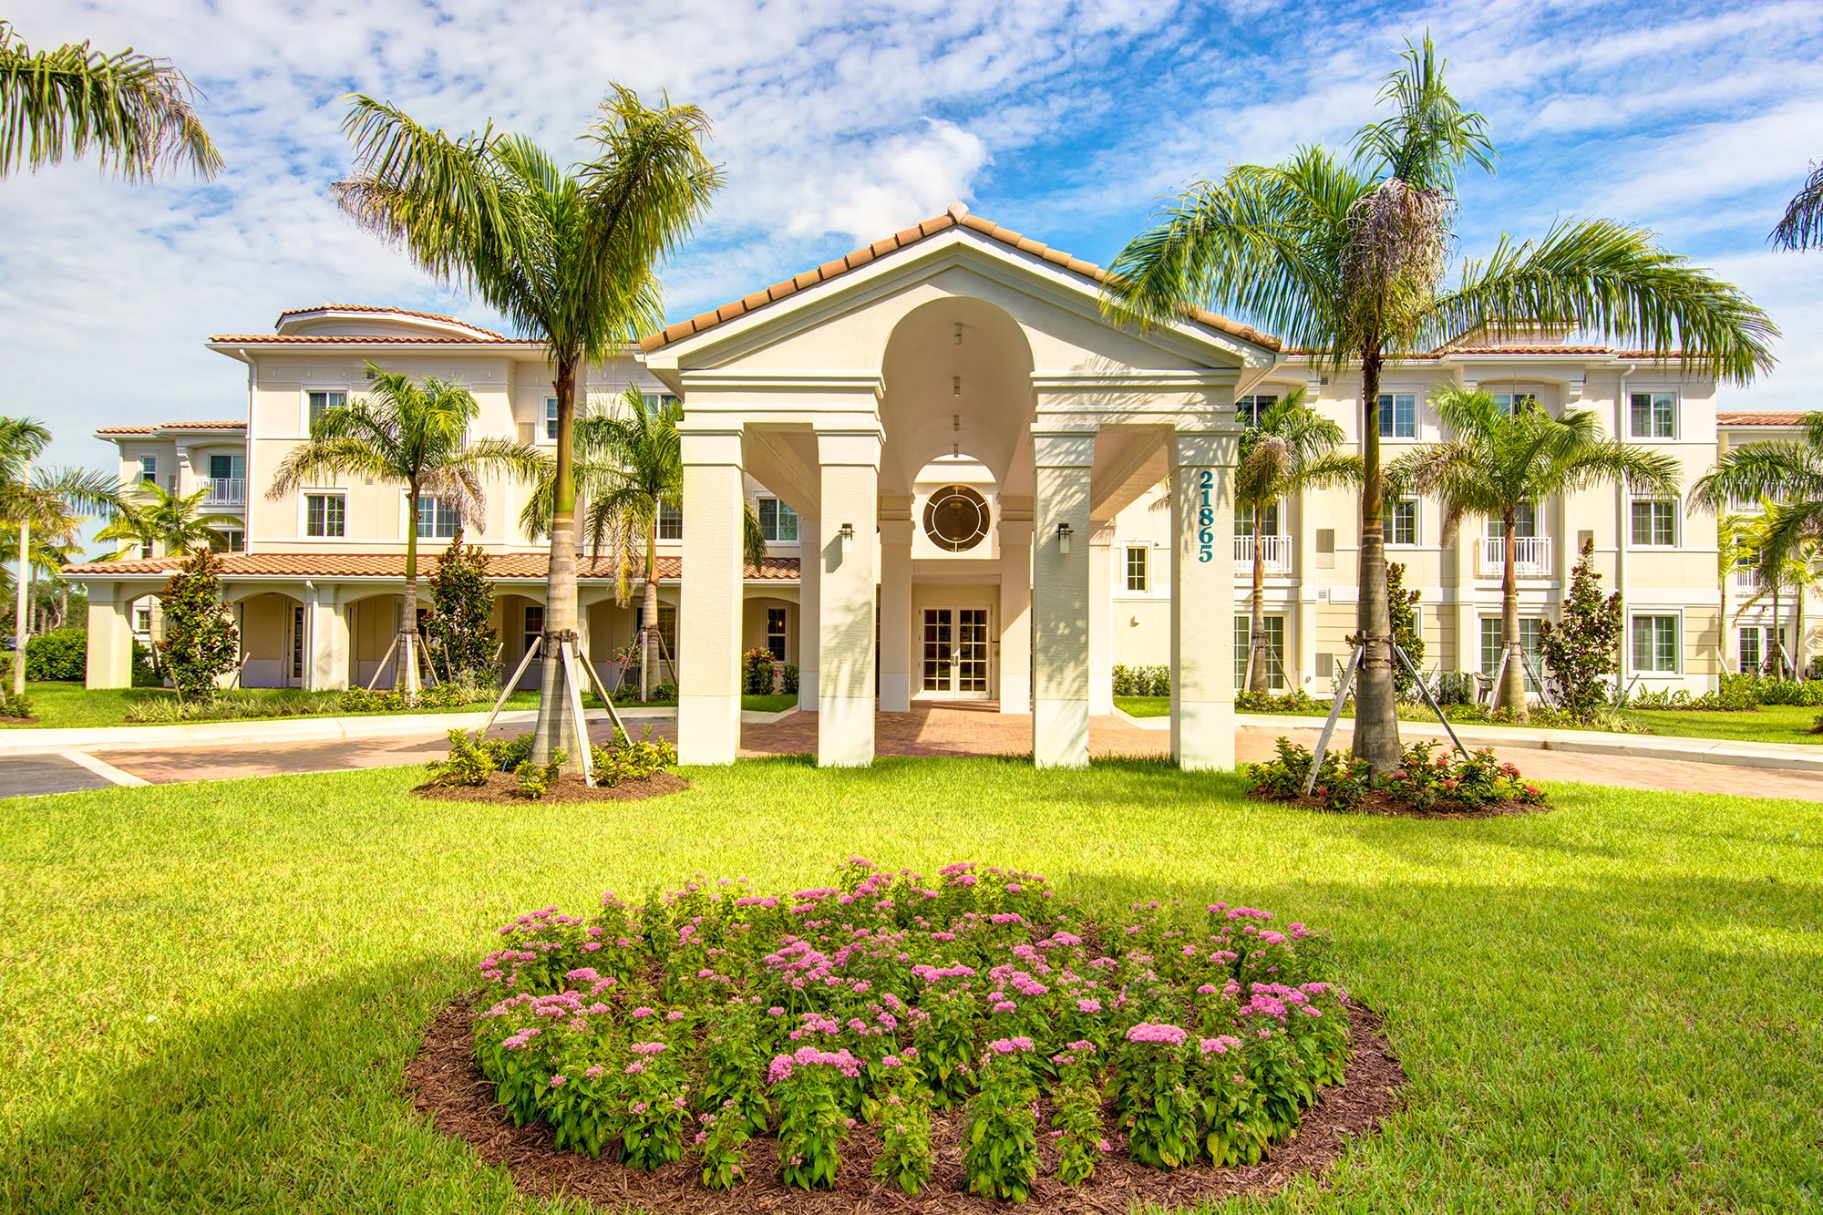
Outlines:
{"label": "gabled entrance portico with square columns and tall arch", "polygon": [[1209,314],[1116,325],[1094,266],[959,204],[649,339],[685,410],[684,763],[738,752],[744,474],[808,538],[802,702],[831,766],[871,763],[875,706],[952,697],[1030,713],[1039,766],[1087,764],[1110,708],[1103,533],[1169,474],[1172,753],[1232,766],[1210,606],[1232,598],[1234,389],[1274,348]]}

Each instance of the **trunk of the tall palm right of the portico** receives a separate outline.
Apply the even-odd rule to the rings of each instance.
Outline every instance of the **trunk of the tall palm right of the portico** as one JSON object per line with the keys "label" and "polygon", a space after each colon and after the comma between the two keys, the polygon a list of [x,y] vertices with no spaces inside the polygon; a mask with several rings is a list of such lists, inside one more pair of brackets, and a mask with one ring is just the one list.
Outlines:
{"label": "trunk of the tall palm right of the portico", "polygon": [[1354,755],[1375,772],[1400,764],[1398,699],[1393,690],[1393,617],[1385,600],[1385,474],[1380,469],[1380,350],[1362,352],[1362,544],[1354,626],[1362,664],[1354,675]]}

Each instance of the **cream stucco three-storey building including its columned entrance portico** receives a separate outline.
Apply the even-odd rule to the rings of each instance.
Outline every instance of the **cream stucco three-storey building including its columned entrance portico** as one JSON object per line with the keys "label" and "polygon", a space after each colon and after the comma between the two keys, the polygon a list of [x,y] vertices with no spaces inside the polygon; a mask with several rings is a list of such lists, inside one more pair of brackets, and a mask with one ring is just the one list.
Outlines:
{"label": "cream stucco three-storey building including its columned entrance portico", "polygon": [[[913,699],[1030,711],[1041,764],[1087,763],[1088,717],[1112,711],[1116,664],[1170,666],[1174,753],[1189,766],[1232,763],[1252,556],[1229,502],[1240,429],[1267,398],[1303,389],[1358,443],[1360,385],[1220,316],[1112,323],[1099,279],[953,206],[587,369],[587,409],[616,407],[629,385],[684,401],[685,509],[660,524],[660,628],[678,662],[685,761],[735,757],[738,653],[764,646],[800,668],[822,763],[868,763],[875,710]],[[452,317],[321,306],[210,348],[244,365],[246,418],[102,431],[122,476],[206,482],[211,509],[244,518],[224,558],[242,684],[386,679],[414,525],[401,489],[341,482],[272,500],[263,485],[314,410],[363,390],[368,361],[459,379],[479,401],[478,432],[549,443],[541,347]],[[1389,363],[1387,458],[1440,438],[1426,398],[1446,383],[1591,409],[1610,432],[1672,454],[1684,485],[1721,445],[1787,421],[1719,416],[1714,381],[1637,352],[1528,334]],[[494,485],[467,533],[494,555],[509,670],[543,628],[543,544],[516,525],[525,493]],[[744,498],[758,500],[767,529],[758,567],[740,556]],[[1331,690],[1354,629],[1354,520],[1345,491],[1269,511],[1276,686]],[[454,518],[432,505],[416,527],[421,553],[436,553]],[[1528,637],[1593,542],[1604,584],[1628,606],[1622,662],[1635,686],[1703,690],[1770,644],[1765,611],[1735,622],[1730,608],[1725,622],[1715,520],[1683,498],[1577,493],[1539,504],[1517,533]],[[1389,509],[1387,540],[1406,586],[1422,591],[1426,666],[1489,668],[1499,536],[1471,520],[1444,545],[1437,505],[1404,502]],[[175,564],[149,553],[80,567],[91,684],[126,682],[128,639],[155,628],[151,597]],[[634,611],[587,555],[580,600],[583,649],[613,684]],[[1759,631],[1743,640],[1745,629]]]}

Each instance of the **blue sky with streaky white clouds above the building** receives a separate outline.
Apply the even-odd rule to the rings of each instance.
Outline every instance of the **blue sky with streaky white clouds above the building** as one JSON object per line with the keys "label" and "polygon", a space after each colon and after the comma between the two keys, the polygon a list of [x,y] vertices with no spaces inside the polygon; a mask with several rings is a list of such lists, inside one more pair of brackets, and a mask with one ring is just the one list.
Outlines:
{"label": "blue sky with streaky white clouds above the building", "polygon": [[1765,244],[1823,157],[1823,4],[49,0],[16,27],[170,57],[228,159],[208,184],[0,182],[0,412],[49,420],[60,462],[106,463],[98,425],[242,416],[244,369],[202,341],[288,306],[498,325],[330,202],[348,91],[560,153],[607,80],[704,106],[729,184],[665,272],[684,317],[953,199],[1107,261],[1187,181],[1344,142],[1424,29],[1502,153],[1462,182],[1460,254],[1557,217],[1648,226],[1785,328],[1725,407],[1823,407],[1823,254]]}

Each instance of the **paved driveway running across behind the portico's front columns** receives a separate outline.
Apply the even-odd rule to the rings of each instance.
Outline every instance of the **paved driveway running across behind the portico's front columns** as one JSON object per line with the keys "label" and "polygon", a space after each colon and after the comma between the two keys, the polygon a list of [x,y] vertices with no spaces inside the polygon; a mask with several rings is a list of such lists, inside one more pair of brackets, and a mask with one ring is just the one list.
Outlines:
{"label": "paved driveway running across behind the portico's front columns", "polygon": [[[660,715],[662,713],[662,715]],[[474,721],[469,721],[474,717]],[[609,737],[605,715],[591,711],[591,735]],[[529,728],[530,711],[503,713],[494,733],[520,733]],[[275,775],[283,772],[341,772],[419,764],[447,752],[445,732],[479,726],[479,715],[441,717],[363,717],[277,722],[226,722],[232,737],[159,737],[151,730],[202,730],[199,726],[146,728],[117,741],[111,735],[88,746],[64,741],[62,746],[26,753],[16,746],[24,733],[5,732],[13,744],[0,752],[0,797],[20,794],[73,792],[104,784],[164,784],[173,781]],[[1165,728],[1161,728],[1161,724]],[[1272,755],[1278,735],[1303,746],[1316,741],[1318,721],[1309,717],[1241,717],[1236,752],[1241,763]],[[310,726],[310,730],[304,730]],[[654,711],[629,721],[638,732],[651,726],[656,737],[676,739],[676,717]],[[1347,726],[1338,726],[1338,746],[1347,746]],[[259,739],[248,741],[257,730]],[[1407,739],[1429,737],[1433,730],[1404,722]],[[881,713],[875,726],[881,755],[1025,755],[1032,750],[1032,719],[999,713],[994,706],[944,704],[917,706],[910,713]],[[1579,735],[1579,737],[1573,737]],[[1127,715],[1090,721],[1090,752],[1096,757],[1169,755],[1170,733],[1163,719],[1136,721]],[[1593,750],[1562,750],[1588,741]],[[1464,732],[1468,746],[1495,744],[1531,779],[1582,781],[1622,788],[1739,794],[1752,797],[1823,799],[1823,748],[1794,746],[1805,752],[1785,757],[1772,750],[1748,753],[1739,766],[1735,746],[1765,752],[1776,744],[1726,744],[1714,739],[1670,739],[1663,735],[1601,735],[1586,732],[1495,730]],[[817,746],[817,715],[747,713],[742,721],[742,755],[793,755]],[[1726,752],[1726,753],[1725,753]],[[1725,761],[1725,763],[1719,763]],[[1783,763],[1783,766],[1779,766]]]}

